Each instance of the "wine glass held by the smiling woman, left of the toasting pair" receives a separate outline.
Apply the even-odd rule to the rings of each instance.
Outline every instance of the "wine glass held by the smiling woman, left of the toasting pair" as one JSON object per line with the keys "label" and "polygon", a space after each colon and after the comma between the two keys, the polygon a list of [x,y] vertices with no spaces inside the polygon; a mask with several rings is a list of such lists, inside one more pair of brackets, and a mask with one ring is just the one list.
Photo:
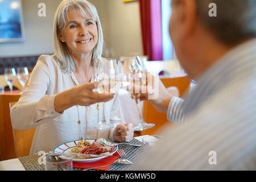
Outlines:
{"label": "wine glass held by the smiling woman, left of the toasting pair", "polygon": [[[98,85],[97,92],[98,93],[110,93],[112,91],[111,84],[114,84],[110,81],[111,75],[115,70],[110,64],[109,60],[96,60],[93,65],[93,81],[98,81],[100,84]],[[110,77],[109,77],[110,76]],[[110,82],[109,82],[110,81]],[[100,106],[97,104],[98,110],[98,125],[96,126],[98,130],[110,129],[113,127],[110,123],[106,121],[106,113],[105,113],[105,102],[102,102],[102,119],[99,119],[99,110]]]}

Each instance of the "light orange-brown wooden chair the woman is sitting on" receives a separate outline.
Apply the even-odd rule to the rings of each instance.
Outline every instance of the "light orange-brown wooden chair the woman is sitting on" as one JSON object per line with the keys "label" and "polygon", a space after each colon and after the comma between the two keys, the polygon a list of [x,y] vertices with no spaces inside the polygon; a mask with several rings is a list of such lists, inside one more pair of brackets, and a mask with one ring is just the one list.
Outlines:
{"label": "light orange-brown wooden chair the woman is sitting on", "polygon": [[[11,107],[16,102],[10,102]],[[36,128],[29,130],[16,130],[13,128],[14,148],[16,158],[30,155],[30,148],[34,138]]]}

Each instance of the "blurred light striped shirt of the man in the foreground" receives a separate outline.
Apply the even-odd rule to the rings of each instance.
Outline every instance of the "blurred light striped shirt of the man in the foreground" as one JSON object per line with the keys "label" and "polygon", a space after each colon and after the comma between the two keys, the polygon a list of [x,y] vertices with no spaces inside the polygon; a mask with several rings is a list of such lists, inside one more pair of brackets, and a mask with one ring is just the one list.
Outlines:
{"label": "blurred light striped shirt of the man in the foreground", "polygon": [[222,56],[185,100],[174,97],[168,119],[183,124],[130,170],[255,170],[256,39]]}

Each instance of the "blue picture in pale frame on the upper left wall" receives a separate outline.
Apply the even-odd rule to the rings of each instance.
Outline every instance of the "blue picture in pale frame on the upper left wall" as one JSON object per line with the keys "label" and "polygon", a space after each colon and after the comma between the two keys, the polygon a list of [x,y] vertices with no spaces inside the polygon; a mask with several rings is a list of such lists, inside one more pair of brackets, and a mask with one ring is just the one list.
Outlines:
{"label": "blue picture in pale frame on the upper left wall", "polygon": [[0,43],[24,40],[22,0],[0,0]]}

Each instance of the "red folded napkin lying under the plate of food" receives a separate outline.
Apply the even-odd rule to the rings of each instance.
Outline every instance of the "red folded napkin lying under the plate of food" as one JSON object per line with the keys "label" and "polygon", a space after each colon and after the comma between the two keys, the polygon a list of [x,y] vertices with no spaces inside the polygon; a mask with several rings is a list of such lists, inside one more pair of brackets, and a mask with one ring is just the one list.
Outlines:
{"label": "red folded napkin lying under the plate of food", "polygon": [[[113,163],[115,160],[117,160],[119,158],[119,154],[117,152],[115,152],[112,156],[108,156],[106,158],[94,161],[94,162],[90,162],[90,163],[77,163],[77,162],[73,162],[73,168],[90,168],[90,167],[98,167],[98,166],[104,166],[110,163]],[[101,167],[101,168],[95,168],[97,170],[102,170],[102,171],[106,171],[109,167]]]}

